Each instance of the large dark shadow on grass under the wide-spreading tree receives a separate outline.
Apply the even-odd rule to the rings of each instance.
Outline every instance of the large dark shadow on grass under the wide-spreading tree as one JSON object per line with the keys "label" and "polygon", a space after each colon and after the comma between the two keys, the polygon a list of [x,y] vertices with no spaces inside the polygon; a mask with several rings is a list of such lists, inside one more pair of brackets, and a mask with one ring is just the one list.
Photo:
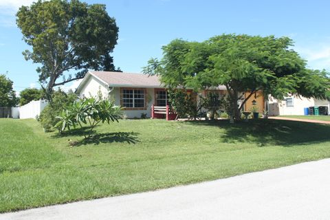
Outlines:
{"label": "large dark shadow on grass under the wide-spreading tree", "polygon": [[[199,126],[218,126],[223,142],[253,142],[259,146],[292,146],[297,144],[318,144],[330,141],[330,126],[310,122],[285,120],[250,120],[249,122],[188,121]],[[214,134],[217,135],[217,134]]]}

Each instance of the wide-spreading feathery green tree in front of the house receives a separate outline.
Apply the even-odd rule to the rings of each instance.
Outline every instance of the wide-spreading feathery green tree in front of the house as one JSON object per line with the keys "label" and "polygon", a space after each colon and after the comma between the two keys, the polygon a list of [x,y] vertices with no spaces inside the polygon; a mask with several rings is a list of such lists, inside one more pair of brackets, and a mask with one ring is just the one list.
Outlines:
{"label": "wide-spreading feathery green tree in front of the house", "polygon": [[[257,91],[278,99],[287,94],[329,98],[327,72],[307,69],[292,45],[287,37],[245,34],[223,34],[201,43],[176,39],[162,47],[162,60],[151,59],[144,73],[157,73],[168,87],[198,90],[225,85],[236,120]],[[250,91],[247,98],[246,91]]]}

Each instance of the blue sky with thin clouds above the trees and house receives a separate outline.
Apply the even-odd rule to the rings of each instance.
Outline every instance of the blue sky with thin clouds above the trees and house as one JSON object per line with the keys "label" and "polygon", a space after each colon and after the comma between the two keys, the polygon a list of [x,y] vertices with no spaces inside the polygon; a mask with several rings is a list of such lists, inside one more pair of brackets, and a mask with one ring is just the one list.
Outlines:
{"label": "blue sky with thin clouds above the trees and house", "polygon": [[[223,33],[289,36],[294,50],[314,69],[330,71],[330,1],[216,1],[216,0],[93,0],[104,3],[119,32],[113,53],[116,67],[141,72],[151,57],[162,56],[162,45],[181,38],[204,41]],[[36,64],[25,61],[28,49],[15,25],[19,5],[31,0],[0,0],[0,73],[14,89],[39,87]],[[74,88],[77,83],[66,85]]]}

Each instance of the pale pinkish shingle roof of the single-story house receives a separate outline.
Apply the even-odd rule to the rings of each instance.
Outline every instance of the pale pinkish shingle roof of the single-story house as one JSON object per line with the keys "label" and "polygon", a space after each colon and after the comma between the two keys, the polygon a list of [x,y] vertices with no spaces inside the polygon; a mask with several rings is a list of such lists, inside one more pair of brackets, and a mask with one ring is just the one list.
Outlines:
{"label": "pale pinkish shingle roof of the single-story house", "polygon": [[89,71],[109,86],[162,87],[158,76],[124,72]]}

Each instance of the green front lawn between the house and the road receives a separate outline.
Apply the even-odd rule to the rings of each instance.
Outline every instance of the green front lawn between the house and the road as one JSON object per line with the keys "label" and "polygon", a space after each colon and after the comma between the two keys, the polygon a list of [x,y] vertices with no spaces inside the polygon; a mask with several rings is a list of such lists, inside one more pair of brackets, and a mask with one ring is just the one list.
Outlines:
{"label": "green front lawn between the house and the road", "polygon": [[[0,212],[143,192],[330,157],[330,126],[121,120],[43,133],[35,120],[0,120]],[[70,145],[74,145],[71,147]]]}

